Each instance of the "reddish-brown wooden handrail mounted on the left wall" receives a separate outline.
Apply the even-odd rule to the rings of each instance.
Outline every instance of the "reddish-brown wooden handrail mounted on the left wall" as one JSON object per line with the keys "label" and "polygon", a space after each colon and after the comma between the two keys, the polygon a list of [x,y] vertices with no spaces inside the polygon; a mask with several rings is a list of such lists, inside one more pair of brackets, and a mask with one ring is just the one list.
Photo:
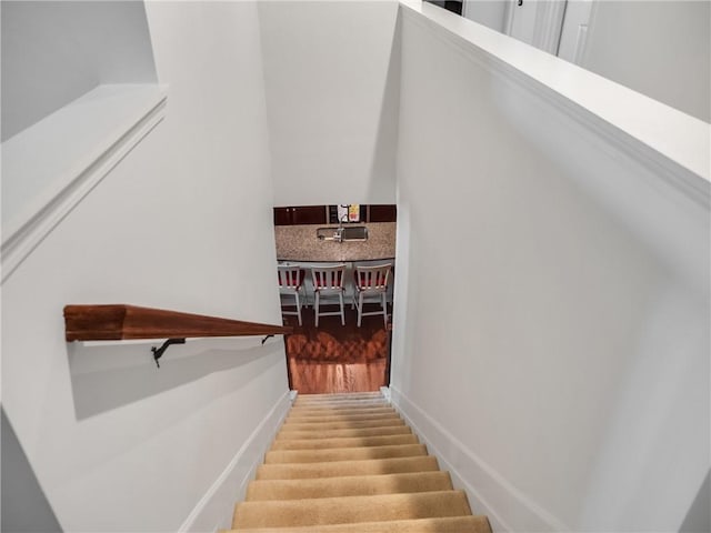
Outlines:
{"label": "reddish-brown wooden handrail mounted on the left wall", "polygon": [[293,328],[126,304],[67,305],[64,334],[71,341],[120,341],[201,336],[289,334]]}

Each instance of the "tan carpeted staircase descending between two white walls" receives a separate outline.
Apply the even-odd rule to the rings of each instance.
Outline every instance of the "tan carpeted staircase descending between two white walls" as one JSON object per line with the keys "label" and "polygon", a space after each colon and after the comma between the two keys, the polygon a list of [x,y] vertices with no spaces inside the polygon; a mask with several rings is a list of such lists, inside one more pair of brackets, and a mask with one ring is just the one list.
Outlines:
{"label": "tan carpeted staircase descending between two white walls", "polygon": [[491,533],[380,393],[299,395],[232,522],[243,533]]}

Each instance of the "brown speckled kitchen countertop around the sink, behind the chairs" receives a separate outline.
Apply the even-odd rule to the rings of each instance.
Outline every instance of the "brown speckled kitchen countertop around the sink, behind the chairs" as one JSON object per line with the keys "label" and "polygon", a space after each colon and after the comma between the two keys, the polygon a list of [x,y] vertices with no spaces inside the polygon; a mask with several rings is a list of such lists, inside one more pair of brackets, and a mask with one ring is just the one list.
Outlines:
{"label": "brown speckled kitchen countertop around the sink, behind the chairs", "polygon": [[319,241],[318,228],[338,228],[326,225],[277,225],[277,259],[279,261],[370,261],[395,257],[395,222],[370,222],[353,224],[368,227],[367,241]]}

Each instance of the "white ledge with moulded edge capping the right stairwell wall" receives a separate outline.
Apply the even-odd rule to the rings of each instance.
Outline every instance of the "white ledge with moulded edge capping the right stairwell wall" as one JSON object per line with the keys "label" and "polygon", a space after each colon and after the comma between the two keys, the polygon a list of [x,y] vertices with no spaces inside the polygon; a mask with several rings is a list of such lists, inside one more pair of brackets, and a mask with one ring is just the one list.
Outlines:
{"label": "white ledge with moulded edge capping the right stairwell wall", "polygon": [[[665,182],[665,184],[679,190],[685,197],[703,208],[709,209],[711,207],[711,182],[709,181],[710,169],[702,169],[704,165],[708,167],[709,158],[707,157],[707,161],[700,162],[700,159],[703,158],[699,158],[698,153],[694,151],[695,148],[698,148],[699,150],[704,150],[700,153],[708,155],[708,124],[704,124],[702,121],[689,117],[681,111],[673,110],[668,105],[653,101],[648,97],[637,94],[631,89],[618,86],[609,80],[601,80],[597,74],[581,70],[579,67],[569,64],[559,58],[550,57],[550,54],[543,51],[527,47],[527,49],[530,48],[530,50],[528,50],[529,53],[543,54],[550,61],[560,61],[561,64],[559,64],[559,67],[561,69],[577,70],[575,72],[561,72],[560,77],[562,79],[567,77],[574,77],[573,74],[575,74],[580,78],[580,83],[584,82],[583,77],[591,79],[595,78],[598,84],[600,84],[601,81],[605,81],[609,83],[608,88],[620,92],[620,94],[624,94],[625,97],[637,94],[640,102],[643,102],[643,104],[654,104],[655,107],[659,107],[660,111],[664,110],[664,115],[668,118],[671,117],[670,120],[673,120],[673,125],[679,127],[677,129],[681,129],[681,124],[688,124],[694,127],[694,132],[703,133],[697,135],[698,138],[692,135],[695,141],[694,149],[689,150],[687,147],[684,153],[681,153],[682,150],[678,149],[678,143],[674,144],[674,142],[669,140],[671,131],[668,131],[668,129],[660,129],[658,127],[653,133],[648,135],[650,138],[649,140],[642,137],[637,137],[634,128],[639,131],[639,124],[634,123],[633,113],[625,115],[629,124],[618,123],[610,117],[598,114],[595,110],[588,108],[584,102],[575,100],[571,94],[565,94],[564,92],[559,91],[558,88],[547,84],[545,82],[537,79],[532,73],[521,70],[502,57],[499,57],[477,44],[470,36],[465,34],[464,31],[477,29],[481,31],[482,29],[474,22],[469,20],[455,20],[450,24],[448,23],[448,18],[450,16],[455,19],[459,19],[460,17],[449,13],[442,9],[434,10],[434,8],[429,8],[432,7],[422,6],[420,9],[422,11],[427,10],[428,12],[420,12],[420,9],[417,7],[408,4],[404,0],[401,0],[402,20],[428,30],[433,38],[440,40],[454,51],[463,54],[468,60],[487,69],[493,76],[513,82],[519,88],[522,88],[523,90],[538,95],[544,102],[552,104],[568,118],[572,119],[578,124],[581,124],[585,130],[593,134],[599,142],[609,147],[608,151],[613,150],[618,154],[622,154],[634,162],[642,164],[655,177]],[[454,22],[457,22],[457,24]],[[462,28],[462,26],[468,22],[471,23],[472,27]],[[488,30],[485,28],[483,29]],[[495,37],[501,39],[511,39],[508,36],[502,34],[497,34]],[[518,41],[515,43],[521,47],[524,46]],[[567,74],[567,77],[563,74]],[[630,124],[633,124],[634,128]],[[662,132],[661,130],[664,131]],[[688,133],[687,131],[684,132]],[[655,139],[652,138],[659,139],[659,142],[657,142],[658,145],[665,145],[670,151],[672,149],[678,149],[679,153],[663,153],[654,148],[654,143],[652,141]],[[698,147],[695,147],[697,144]],[[690,155],[690,153],[694,153],[695,157]]]}

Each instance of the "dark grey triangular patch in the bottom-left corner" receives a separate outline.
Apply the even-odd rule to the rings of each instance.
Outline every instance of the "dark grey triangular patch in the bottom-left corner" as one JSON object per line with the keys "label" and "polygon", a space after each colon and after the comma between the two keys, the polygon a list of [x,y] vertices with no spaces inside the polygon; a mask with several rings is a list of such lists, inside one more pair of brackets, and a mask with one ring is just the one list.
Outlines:
{"label": "dark grey triangular patch in the bottom-left corner", "polygon": [[32,466],[18,441],[4,409],[0,410],[2,432],[2,531],[13,533],[61,532]]}

